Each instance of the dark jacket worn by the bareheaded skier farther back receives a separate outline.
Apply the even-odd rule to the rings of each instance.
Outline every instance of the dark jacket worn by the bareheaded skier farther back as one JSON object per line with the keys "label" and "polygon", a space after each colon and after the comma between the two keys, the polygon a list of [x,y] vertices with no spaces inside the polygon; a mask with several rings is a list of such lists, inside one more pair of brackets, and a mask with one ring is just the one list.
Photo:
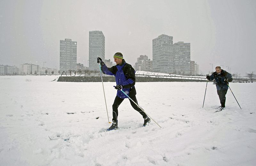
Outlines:
{"label": "dark jacket worn by the bareheaded skier farther back", "polygon": [[209,81],[212,81],[213,79],[215,79],[217,90],[228,89],[228,82],[233,81],[231,74],[223,69],[221,69],[220,74],[218,74],[216,71],[212,73]]}

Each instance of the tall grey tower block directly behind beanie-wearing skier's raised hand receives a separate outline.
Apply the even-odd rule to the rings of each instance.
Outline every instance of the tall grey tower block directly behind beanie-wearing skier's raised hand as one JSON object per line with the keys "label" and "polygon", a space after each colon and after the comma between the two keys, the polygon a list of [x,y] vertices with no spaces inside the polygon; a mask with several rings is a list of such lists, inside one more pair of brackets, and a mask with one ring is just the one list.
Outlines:
{"label": "tall grey tower block directly behind beanie-wearing skier's raised hand", "polygon": [[105,59],[105,36],[102,31],[89,31],[89,69],[100,71],[97,58]]}

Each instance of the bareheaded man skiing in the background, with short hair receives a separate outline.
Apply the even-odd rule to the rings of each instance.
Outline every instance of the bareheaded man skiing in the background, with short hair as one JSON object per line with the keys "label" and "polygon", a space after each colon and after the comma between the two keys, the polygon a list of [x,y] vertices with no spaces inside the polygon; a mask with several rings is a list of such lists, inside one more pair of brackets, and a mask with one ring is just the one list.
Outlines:
{"label": "bareheaded man skiing in the background, with short hair", "polygon": [[209,81],[212,81],[213,79],[215,79],[217,93],[219,95],[220,104],[221,104],[219,109],[222,110],[225,108],[226,94],[228,91],[228,82],[233,81],[233,78],[231,74],[229,74],[227,71],[222,70],[220,66],[217,66],[215,70],[216,72],[212,73],[211,76],[206,76],[206,78]]}

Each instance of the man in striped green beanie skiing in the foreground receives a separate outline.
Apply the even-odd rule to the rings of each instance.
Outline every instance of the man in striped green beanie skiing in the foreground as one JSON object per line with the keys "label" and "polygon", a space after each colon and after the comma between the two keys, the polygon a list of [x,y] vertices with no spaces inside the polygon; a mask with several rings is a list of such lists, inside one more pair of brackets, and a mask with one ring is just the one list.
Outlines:
{"label": "man in striped green beanie skiing in the foreground", "polygon": [[[117,116],[118,116],[118,106],[124,101],[124,98],[128,98],[121,90],[123,90],[136,104],[138,105],[136,99],[136,90],[135,90],[135,70],[132,68],[132,65],[125,62],[123,59],[123,54],[117,52],[114,54],[114,61],[116,62],[116,66],[108,68],[105,63],[101,60],[101,58],[97,58],[97,62],[101,65],[101,71],[107,75],[113,75],[116,77],[116,86],[117,89],[116,98],[113,108],[113,123],[108,128],[108,130],[118,129],[117,126]],[[130,100],[130,99],[129,99]],[[144,118],[143,126],[146,126],[147,123],[150,122],[150,118],[148,118],[147,114],[140,109],[136,104],[134,104],[131,100],[130,103],[132,107],[138,111],[142,117]]]}

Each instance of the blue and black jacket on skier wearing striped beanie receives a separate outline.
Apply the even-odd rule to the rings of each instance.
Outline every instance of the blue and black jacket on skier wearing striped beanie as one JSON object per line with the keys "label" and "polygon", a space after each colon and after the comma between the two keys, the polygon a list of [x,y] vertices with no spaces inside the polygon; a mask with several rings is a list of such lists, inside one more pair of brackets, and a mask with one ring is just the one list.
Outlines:
{"label": "blue and black jacket on skier wearing striped beanie", "polygon": [[[132,65],[125,62],[123,59],[120,65],[112,66],[108,68],[105,64],[101,65],[101,71],[107,75],[113,75],[116,77],[116,85],[122,85],[123,91],[129,96],[136,95],[135,90],[135,70]],[[120,98],[128,98],[121,90],[117,90],[116,95]]]}

